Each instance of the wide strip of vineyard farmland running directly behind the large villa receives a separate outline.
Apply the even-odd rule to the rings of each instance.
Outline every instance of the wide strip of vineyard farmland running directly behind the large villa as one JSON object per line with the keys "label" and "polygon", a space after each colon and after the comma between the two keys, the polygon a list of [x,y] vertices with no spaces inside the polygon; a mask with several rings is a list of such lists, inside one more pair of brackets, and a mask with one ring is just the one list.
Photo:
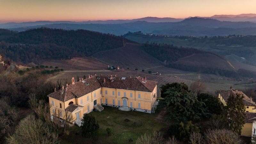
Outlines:
{"label": "wide strip of vineyard farmland running directly behind the large villa", "polygon": [[[161,68],[168,69],[165,67],[159,67],[160,71]],[[173,70],[173,69],[172,69]],[[172,71],[170,70],[170,71]],[[231,78],[223,77],[223,76],[216,76],[211,74],[197,74],[197,73],[169,73],[164,75],[154,75],[149,74],[148,72],[141,72],[141,71],[125,71],[125,72],[115,72],[115,71],[109,71],[109,70],[77,70],[77,71],[64,71],[60,72],[56,76],[50,77],[49,80],[53,83],[56,83],[57,80],[61,80],[62,83],[68,82],[71,83],[71,77],[82,77],[87,75],[117,75],[118,77],[135,77],[135,76],[147,76],[147,79],[154,80],[158,82],[158,96],[160,96],[159,87],[166,83],[185,83],[188,86],[190,86],[192,83],[194,83],[197,78],[200,78],[201,81],[204,82],[206,86],[205,92],[214,93],[216,90],[227,90],[232,85],[234,88],[237,89],[245,89],[246,86],[240,85],[238,81],[235,81]]]}

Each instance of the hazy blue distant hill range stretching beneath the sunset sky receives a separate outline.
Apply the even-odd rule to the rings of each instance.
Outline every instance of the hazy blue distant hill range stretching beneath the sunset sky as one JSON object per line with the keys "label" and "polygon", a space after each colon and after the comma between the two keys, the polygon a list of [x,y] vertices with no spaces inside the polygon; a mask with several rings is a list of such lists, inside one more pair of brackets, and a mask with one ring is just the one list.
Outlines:
{"label": "hazy blue distant hill range stretching beneath the sunset sky", "polygon": [[31,28],[61,28],[67,30],[86,29],[101,33],[124,35],[127,32],[142,31],[143,33],[154,33],[162,35],[183,36],[227,36],[233,34],[256,35],[256,23],[253,22],[231,22],[198,17],[188,18],[179,22],[147,22],[133,21],[119,24],[74,24],[60,23],[37,25],[31,27],[12,28],[16,31],[24,31]]}

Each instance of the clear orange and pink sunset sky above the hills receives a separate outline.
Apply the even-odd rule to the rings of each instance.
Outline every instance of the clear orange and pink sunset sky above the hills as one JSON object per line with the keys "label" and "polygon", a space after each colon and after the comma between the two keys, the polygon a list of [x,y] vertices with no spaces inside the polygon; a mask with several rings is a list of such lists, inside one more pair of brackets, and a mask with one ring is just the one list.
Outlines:
{"label": "clear orange and pink sunset sky above the hills", "polygon": [[0,0],[0,22],[256,13],[256,0]]}

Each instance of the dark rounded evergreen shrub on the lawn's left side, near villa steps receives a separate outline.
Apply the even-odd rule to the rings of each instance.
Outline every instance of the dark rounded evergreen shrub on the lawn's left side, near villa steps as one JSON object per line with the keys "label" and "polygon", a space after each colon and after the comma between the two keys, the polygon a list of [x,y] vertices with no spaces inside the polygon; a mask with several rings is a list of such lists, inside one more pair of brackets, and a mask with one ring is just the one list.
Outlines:
{"label": "dark rounded evergreen shrub on the lawn's left side, near villa steps", "polygon": [[91,114],[84,114],[82,119],[82,136],[90,138],[97,134],[99,124],[96,122],[95,117]]}

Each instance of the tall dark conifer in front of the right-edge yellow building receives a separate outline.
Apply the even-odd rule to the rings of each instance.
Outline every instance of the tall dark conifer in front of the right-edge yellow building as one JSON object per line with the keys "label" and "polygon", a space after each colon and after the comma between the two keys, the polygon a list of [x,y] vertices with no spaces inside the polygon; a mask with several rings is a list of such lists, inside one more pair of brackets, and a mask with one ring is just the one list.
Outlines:
{"label": "tall dark conifer in front of the right-edge yellow building", "polygon": [[243,98],[244,95],[231,94],[228,98],[227,107],[224,111],[229,128],[239,135],[241,134],[242,127],[245,124],[245,107]]}

